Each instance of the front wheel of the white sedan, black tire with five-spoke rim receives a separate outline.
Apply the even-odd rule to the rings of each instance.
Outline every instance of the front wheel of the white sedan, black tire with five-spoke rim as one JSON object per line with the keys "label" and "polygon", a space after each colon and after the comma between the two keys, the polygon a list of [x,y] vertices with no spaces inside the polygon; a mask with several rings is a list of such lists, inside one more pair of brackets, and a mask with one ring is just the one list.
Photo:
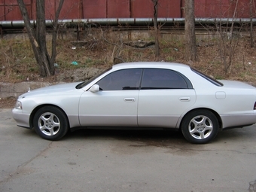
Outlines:
{"label": "front wheel of the white sedan, black tire with five-spoke rim", "polygon": [[40,108],[33,119],[35,132],[43,139],[56,141],[69,130],[66,114],[59,108],[44,106]]}

